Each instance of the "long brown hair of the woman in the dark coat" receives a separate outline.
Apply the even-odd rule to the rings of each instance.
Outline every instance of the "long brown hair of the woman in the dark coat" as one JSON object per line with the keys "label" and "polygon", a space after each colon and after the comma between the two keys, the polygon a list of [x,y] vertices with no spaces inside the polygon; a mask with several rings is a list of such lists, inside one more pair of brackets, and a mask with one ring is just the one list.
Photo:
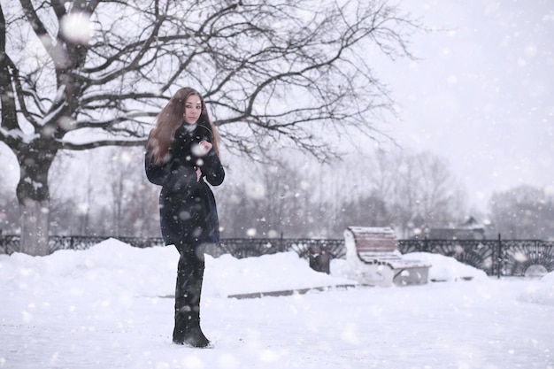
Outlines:
{"label": "long brown hair of the woman in the dark coat", "polygon": [[152,153],[154,163],[161,164],[169,160],[169,148],[173,140],[173,135],[177,128],[181,127],[183,115],[185,113],[185,103],[189,96],[198,96],[202,102],[202,112],[197,120],[199,126],[203,126],[212,132],[213,149],[219,156],[219,133],[212,124],[204,97],[194,88],[181,88],[171,97],[165,108],[159,112],[156,118],[156,125],[150,132],[148,139],[148,149]]}

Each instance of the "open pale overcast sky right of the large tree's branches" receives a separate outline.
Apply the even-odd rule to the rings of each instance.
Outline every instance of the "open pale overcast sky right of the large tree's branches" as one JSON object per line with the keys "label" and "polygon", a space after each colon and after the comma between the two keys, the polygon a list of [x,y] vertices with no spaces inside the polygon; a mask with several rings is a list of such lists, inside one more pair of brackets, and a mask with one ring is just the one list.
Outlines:
{"label": "open pale overcast sky right of the large tree's branches", "polygon": [[380,71],[404,147],[447,158],[472,203],[521,183],[554,191],[554,1],[405,0],[419,61]]}

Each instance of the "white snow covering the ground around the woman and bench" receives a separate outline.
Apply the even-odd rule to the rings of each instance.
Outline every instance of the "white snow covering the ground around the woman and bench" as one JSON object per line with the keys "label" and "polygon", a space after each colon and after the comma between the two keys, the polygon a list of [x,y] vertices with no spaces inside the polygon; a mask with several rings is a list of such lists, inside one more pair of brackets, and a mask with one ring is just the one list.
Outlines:
{"label": "white snow covering the ground around the woman and bench", "polygon": [[295,253],[207,257],[202,318],[214,348],[198,350],[171,343],[171,247],[108,240],[0,255],[0,368],[554,368],[554,273],[497,280],[417,258],[443,282],[236,299],[353,282],[342,260],[329,276]]}

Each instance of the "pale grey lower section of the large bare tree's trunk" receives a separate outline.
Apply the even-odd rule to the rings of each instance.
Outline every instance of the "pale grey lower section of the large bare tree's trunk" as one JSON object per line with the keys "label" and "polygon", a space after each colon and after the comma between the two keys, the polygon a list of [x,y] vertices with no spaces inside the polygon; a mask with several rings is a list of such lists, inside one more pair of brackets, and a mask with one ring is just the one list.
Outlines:
{"label": "pale grey lower section of the large bare tree's trunk", "polygon": [[21,209],[21,238],[19,251],[28,255],[50,254],[48,244],[50,201],[29,200],[19,204]]}

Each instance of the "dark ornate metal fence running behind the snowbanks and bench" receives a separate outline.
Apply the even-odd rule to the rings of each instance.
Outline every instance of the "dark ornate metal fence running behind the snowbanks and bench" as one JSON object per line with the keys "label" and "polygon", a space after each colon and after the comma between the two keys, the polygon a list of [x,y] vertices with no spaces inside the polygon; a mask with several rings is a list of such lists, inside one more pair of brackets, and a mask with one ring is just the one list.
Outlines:
{"label": "dark ornate metal fence running behind the snowbanks and bench", "polygon": [[[102,242],[108,236],[50,236],[50,252],[56,250],[85,250]],[[146,248],[163,245],[160,237],[117,237],[132,246]],[[286,238],[227,238],[206,250],[213,257],[231,254],[235,258],[258,257],[283,251],[296,251],[309,258],[310,248],[317,246],[328,251],[331,258],[344,258],[346,249],[342,239],[286,239]],[[525,276],[528,273],[554,271],[554,242],[540,240],[399,240],[398,249],[409,252],[431,252],[472,265],[496,276]],[[19,251],[19,235],[0,234],[0,252]]]}

